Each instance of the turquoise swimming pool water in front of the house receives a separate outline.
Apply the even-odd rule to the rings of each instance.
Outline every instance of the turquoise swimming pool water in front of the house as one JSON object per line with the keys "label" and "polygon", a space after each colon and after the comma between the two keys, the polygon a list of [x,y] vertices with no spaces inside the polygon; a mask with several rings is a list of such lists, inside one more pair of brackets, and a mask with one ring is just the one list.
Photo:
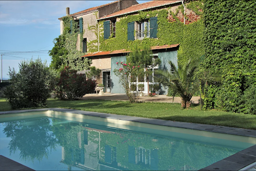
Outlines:
{"label": "turquoise swimming pool water in front of the house", "polygon": [[59,111],[0,115],[0,155],[35,170],[197,170],[255,144],[254,137]]}

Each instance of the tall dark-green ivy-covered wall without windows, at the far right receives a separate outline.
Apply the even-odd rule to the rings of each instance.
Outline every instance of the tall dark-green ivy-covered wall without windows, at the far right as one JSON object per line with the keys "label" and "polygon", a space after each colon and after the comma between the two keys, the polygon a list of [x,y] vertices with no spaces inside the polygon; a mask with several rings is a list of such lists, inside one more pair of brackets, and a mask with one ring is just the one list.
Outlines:
{"label": "tall dark-green ivy-covered wall without windows, at the far right", "polygon": [[248,102],[255,103],[254,93],[244,97],[256,90],[255,11],[255,1],[205,1],[205,69],[223,78],[220,86],[209,87],[215,108],[239,113],[254,108],[256,114],[255,104]]}

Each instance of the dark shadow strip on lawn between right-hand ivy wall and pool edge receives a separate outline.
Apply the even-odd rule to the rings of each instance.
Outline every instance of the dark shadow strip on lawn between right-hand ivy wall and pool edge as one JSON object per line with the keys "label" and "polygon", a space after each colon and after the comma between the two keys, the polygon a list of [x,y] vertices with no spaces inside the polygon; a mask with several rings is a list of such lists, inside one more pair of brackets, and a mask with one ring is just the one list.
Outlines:
{"label": "dark shadow strip on lawn between right-hand ivy wall and pool edge", "polygon": [[[244,129],[256,130],[255,119],[244,117],[244,114],[224,114],[224,115],[211,115],[211,116],[169,116],[169,117],[156,117],[156,119],[172,120],[180,122],[202,123],[210,125],[222,125],[229,127],[239,127]],[[246,126],[244,126],[246,125]]]}

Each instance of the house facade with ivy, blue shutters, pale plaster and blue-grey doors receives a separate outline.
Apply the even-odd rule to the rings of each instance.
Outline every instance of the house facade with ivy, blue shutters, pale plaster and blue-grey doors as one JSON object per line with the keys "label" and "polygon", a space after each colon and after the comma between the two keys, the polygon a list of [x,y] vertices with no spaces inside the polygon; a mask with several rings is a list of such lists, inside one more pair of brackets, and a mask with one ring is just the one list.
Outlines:
{"label": "house facade with ivy, blue shutters, pale plaster and blue-grey doors", "polygon": [[[123,1],[116,3],[120,4]],[[79,49],[81,47],[79,46],[80,37],[77,38],[77,50],[86,52],[86,55],[82,57],[92,59],[91,66],[101,70],[100,79],[97,82],[104,84],[104,92],[124,93],[114,70],[117,68],[116,62],[126,60],[126,55],[129,54],[130,47],[134,44],[150,45],[153,60],[160,58],[161,64],[153,70],[170,71],[168,61],[173,61],[177,66],[178,59],[182,63],[189,57],[202,56],[204,53],[201,2],[136,3],[131,1],[130,7],[127,5],[127,8],[121,8],[110,14],[104,13],[104,15],[100,15],[100,10],[103,8],[100,7],[99,12],[90,14],[91,20],[83,18],[83,37],[86,38],[87,45],[82,42],[82,47],[87,50]],[[104,5],[104,9],[110,8],[108,6]],[[88,12],[88,10],[85,11]],[[71,15],[79,17],[77,13]],[[86,23],[85,20],[90,22]],[[97,28],[92,31],[90,26],[97,26]],[[134,82],[137,90],[139,84],[144,85],[141,90],[146,94],[145,76],[141,76]],[[154,71],[150,77],[150,85],[153,84],[157,84],[154,81]],[[167,94],[167,88],[160,86],[158,93]]]}

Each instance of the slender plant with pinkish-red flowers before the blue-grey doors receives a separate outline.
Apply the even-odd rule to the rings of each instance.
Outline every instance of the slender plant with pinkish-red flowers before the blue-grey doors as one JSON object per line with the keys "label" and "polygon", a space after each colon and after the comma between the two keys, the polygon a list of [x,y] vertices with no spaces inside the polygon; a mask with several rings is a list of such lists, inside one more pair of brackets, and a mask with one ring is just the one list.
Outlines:
{"label": "slender plant with pinkish-red flowers before the blue-grey doors", "polygon": [[135,65],[135,63],[126,63],[126,62],[116,62],[119,69],[115,69],[114,73],[119,77],[120,84],[125,90],[126,95],[129,98],[130,102],[135,102],[138,100],[136,98],[136,89],[134,89],[134,85],[132,84],[133,80],[136,80],[138,74],[142,73],[143,68]]}

